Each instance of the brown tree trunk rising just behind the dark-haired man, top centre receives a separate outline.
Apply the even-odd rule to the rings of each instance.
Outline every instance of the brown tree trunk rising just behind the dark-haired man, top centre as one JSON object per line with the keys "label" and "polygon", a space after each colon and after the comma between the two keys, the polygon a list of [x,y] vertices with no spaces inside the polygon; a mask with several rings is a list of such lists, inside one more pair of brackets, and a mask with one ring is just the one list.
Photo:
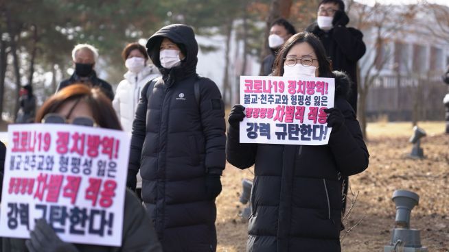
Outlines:
{"label": "brown tree trunk rising just behind the dark-haired man, top centre", "polygon": [[[268,36],[270,35],[271,23],[277,18],[288,18],[290,16],[290,9],[292,8],[292,0],[273,0],[270,5],[270,12],[266,17],[266,29],[264,42],[262,45],[262,53],[260,55],[260,62],[270,54],[268,47]],[[260,66],[260,73],[262,73],[262,65]]]}

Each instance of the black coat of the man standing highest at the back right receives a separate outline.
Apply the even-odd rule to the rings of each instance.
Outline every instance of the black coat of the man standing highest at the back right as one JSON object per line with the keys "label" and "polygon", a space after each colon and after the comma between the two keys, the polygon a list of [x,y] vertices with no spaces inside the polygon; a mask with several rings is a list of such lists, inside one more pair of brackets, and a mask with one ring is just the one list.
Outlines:
{"label": "black coat of the man standing highest at the back right", "polygon": [[352,80],[349,104],[357,112],[357,62],[365,54],[367,48],[363,42],[363,34],[358,29],[337,26],[330,31],[323,31],[316,23],[307,27],[306,31],[317,36],[332,60],[332,69],[343,71]]}

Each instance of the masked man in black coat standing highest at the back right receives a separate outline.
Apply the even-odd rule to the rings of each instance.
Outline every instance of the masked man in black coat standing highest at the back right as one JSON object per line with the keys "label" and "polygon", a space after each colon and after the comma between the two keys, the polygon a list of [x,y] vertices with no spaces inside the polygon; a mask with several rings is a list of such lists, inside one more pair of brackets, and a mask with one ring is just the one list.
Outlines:
{"label": "masked man in black coat standing highest at the back right", "polygon": [[323,43],[332,69],[345,72],[352,80],[349,104],[357,114],[357,62],[367,48],[363,34],[358,29],[346,27],[349,17],[345,13],[345,3],[341,0],[323,0],[319,3],[315,23],[307,27]]}

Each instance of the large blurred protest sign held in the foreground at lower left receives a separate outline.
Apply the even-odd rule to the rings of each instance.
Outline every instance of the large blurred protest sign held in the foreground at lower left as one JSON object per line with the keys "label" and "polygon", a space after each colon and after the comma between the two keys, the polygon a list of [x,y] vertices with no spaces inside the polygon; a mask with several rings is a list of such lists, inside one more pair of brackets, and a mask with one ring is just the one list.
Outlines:
{"label": "large blurred protest sign held in the foreground at lower left", "polygon": [[129,145],[113,129],[10,125],[0,236],[30,238],[45,218],[65,242],[121,246]]}

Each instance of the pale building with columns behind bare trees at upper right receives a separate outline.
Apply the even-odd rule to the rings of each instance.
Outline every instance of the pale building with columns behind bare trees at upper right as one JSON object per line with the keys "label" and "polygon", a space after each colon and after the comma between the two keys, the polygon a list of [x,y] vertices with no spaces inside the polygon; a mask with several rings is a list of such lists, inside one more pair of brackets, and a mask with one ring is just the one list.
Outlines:
{"label": "pale building with columns behind bare trees at upper right", "polygon": [[[443,5],[430,7],[449,9]],[[429,11],[430,7],[352,6],[355,22],[360,21],[357,20],[360,8],[386,13],[383,18],[382,14],[376,16],[382,18],[378,23],[376,18],[360,21],[367,45],[367,53],[359,61],[361,85],[371,79],[365,108],[368,119],[384,116],[389,121],[444,119],[442,100],[446,85],[442,84],[441,75],[449,64],[449,40],[437,35],[441,23]]]}

